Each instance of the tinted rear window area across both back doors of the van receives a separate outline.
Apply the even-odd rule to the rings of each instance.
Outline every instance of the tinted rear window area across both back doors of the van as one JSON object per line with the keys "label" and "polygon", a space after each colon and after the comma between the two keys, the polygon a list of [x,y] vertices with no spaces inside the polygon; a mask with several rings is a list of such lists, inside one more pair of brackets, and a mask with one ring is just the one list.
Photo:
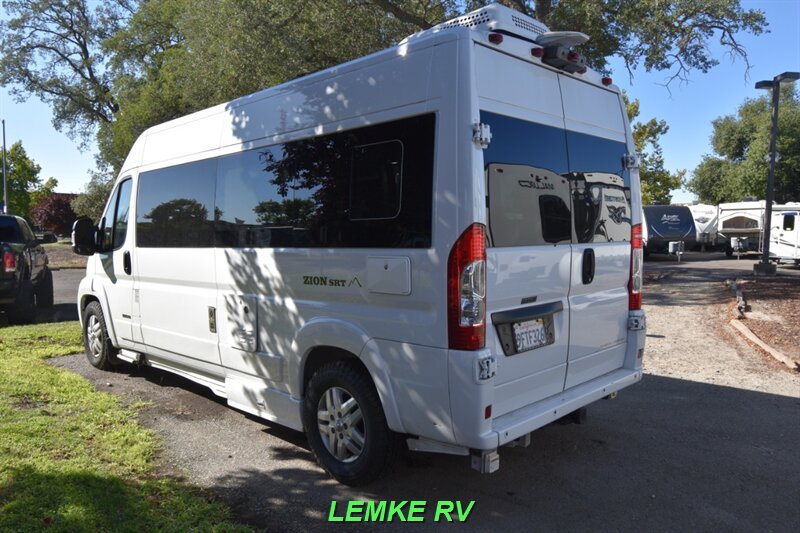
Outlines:
{"label": "tinted rear window area across both back doors of the van", "polygon": [[624,143],[483,111],[492,246],[630,240]]}

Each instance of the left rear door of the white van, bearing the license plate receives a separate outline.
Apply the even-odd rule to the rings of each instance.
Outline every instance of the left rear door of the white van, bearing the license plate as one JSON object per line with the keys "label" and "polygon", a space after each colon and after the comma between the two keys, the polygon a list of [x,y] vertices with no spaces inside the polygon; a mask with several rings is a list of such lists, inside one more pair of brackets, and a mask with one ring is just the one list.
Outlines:
{"label": "left rear door of the white van, bearing the license plate", "polygon": [[476,45],[487,224],[486,345],[499,354],[493,415],[564,388],[572,223],[558,75]]}

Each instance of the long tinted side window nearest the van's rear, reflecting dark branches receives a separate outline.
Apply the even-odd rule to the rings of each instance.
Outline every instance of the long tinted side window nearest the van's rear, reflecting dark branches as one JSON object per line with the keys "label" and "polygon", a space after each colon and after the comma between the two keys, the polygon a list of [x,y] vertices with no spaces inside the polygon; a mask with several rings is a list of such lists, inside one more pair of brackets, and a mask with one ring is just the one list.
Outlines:
{"label": "long tinted side window nearest the van's rear, reflecting dark branches", "polygon": [[428,248],[435,116],[220,158],[216,245]]}

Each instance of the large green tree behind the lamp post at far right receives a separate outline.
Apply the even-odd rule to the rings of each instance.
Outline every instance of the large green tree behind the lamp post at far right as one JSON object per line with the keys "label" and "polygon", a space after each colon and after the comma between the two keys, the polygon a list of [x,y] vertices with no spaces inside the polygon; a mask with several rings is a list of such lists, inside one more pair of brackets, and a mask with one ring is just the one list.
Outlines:
{"label": "large green tree behind the lamp post at far right", "polygon": [[[738,202],[745,196],[766,198],[772,96],[746,100],[737,114],[712,122],[713,155],[694,170],[689,190],[702,202]],[[782,84],[778,113],[775,201],[800,201],[800,100],[795,84]]]}

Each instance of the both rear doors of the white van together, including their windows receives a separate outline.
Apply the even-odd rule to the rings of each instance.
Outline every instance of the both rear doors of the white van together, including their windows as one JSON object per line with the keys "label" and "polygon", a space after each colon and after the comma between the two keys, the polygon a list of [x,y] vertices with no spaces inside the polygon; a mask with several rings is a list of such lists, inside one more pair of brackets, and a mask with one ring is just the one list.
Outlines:
{"label": "both rear doors of the white van together, including their windows", "polygon": [[500,416],[622,366],[630,178],[617,94],[480,45],[476,56]]}

